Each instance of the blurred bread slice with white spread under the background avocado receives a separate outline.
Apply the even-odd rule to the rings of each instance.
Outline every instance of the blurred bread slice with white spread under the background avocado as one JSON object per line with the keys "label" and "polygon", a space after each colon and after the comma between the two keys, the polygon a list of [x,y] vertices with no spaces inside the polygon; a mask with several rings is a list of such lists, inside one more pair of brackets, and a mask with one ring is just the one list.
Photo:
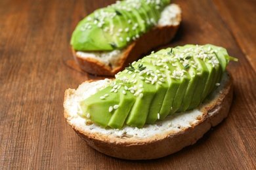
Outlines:
{"label": "blurred bread slice with white spread under the background avocado", "polygon": [[93,75],[113,76],[137,61],[142,54],[167,44],[173,39],[181,24],[181,8],[171,4],[163,10],[158,25],[150,29],[127,47],[112,52],[79,52],[72,48],[77,65]]}

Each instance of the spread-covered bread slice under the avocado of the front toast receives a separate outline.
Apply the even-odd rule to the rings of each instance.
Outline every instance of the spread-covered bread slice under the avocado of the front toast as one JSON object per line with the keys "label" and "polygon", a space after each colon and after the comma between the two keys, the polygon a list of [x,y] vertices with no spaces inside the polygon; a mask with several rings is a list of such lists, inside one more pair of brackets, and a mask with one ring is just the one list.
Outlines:
{"label": "spread-covered bread slice under the avocado of the front toast", "polygon": [[232,103],[232,77],[225,73],[214,95],[198,109],[167,116],[163,121],[140,129],[129,126],[108,129],[77,115],[78,102],[104,88],[108,81],[87,81],[77,90],[66,90],[64,117],[89,146],[108,156],[127,160],[161,158],[196,143],[226,118]]}

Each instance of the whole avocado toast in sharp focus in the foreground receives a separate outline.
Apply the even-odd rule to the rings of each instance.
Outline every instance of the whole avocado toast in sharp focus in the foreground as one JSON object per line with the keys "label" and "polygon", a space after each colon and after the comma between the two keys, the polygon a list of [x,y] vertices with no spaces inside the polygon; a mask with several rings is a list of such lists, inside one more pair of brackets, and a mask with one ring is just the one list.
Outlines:
{"label": "whole avocado toast in sharp focus in the foreground", "polygon": [[133,61],[115,78],[88,80],[64,97],[64,117],[108,156],[150,160],[196,143],[232,104],[223,47],[176,46]]}

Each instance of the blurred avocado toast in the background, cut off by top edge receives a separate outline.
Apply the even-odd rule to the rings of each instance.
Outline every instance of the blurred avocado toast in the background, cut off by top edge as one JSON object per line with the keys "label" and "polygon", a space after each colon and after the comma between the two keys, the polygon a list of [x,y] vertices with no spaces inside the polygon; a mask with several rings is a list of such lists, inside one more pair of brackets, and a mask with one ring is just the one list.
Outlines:
{"label": "blurred avocado toast in the background, cut off by top edge", "polygon": [[75,62],[87,73],[114,76],[170,42],[180,23],[181,9],[169,0],[117,1],[77,24],[70,41]]}

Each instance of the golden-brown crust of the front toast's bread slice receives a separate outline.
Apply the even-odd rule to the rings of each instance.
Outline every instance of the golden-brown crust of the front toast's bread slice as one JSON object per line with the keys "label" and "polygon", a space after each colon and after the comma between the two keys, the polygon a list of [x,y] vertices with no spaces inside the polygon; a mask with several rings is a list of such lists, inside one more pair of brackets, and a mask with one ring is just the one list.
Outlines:
{"label": "golden-brown crust of the front toast's bread slice", "polygon": [[[75,132],[99,152],[108,156],[126,160],[150,160],[173,154],[182,148],[196,143],[209,129],[216,126],[228,116],[228,111],[233,97],[232,77],[227,74],[227,80],[223,88],[214,95],[211,101],[200,105],[199,110],[203,112],[190,124],[190,127],[181,131],[163,131],[153,137],[113,137],[92,131],[83,131],[79,126],[73,124],[72,114],[68,109],[68,99],[74,97],[75,90],[69,89],[64,97],[64,116]],[[179,113],[178,113],[179,114]],[[86,126],[86,125],[85,125]],[[161,126],[160,126],[161,128]]]}

